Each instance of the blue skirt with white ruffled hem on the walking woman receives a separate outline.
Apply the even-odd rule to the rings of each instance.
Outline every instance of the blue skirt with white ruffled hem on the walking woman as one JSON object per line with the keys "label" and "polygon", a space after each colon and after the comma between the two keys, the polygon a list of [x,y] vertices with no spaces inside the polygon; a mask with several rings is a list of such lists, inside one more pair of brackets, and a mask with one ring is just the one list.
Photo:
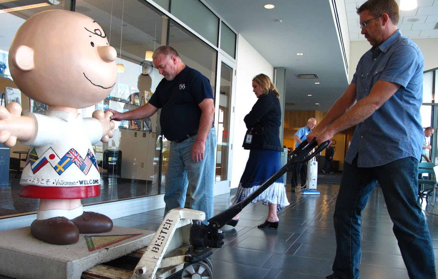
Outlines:
{"label": "blue skirt with white ruffled hem on the walking woman", "polygon": [[[244,173],[240,178],[236,196],[231,200],[233,205],[240,203],[247,196],[257,190],[266,180],[281,168],[281,152],[270,149],[254,149],[250,151]],[[263,204],[277,204],[277,211],[289,205],[286,197],[286,188],[283,176],[272,183],[263,193],[252,202],[262,201]]]}

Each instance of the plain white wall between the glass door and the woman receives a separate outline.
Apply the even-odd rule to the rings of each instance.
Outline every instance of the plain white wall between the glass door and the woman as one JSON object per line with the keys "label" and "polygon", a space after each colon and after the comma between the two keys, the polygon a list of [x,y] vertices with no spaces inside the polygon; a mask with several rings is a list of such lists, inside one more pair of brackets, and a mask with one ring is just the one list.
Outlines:
{"label": "plain white wall between the glass door and the woman", "polygon": [[249,150],[242,148],[245,132],[244,117],[257,101],[252,92],[252,79],[264,73],[273,78],[274,67],[270,65],[241,35],[237,46],[237,77],[236,77],[236,107],[234,109],[233,161],[231,170],[231,188],[239,186],[240,177],[244,172],[249,156]]}

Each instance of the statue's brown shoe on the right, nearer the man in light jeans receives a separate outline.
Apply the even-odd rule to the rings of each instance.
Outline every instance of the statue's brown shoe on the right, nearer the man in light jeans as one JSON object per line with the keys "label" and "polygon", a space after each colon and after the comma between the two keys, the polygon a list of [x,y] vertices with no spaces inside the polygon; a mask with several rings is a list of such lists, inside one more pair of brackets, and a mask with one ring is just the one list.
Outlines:
{"label": "statue's brown shoe on the right, nearer the man in light jeans", "polygon": [[78,227],[81,234],[96,234],[113,229],[113,221],[109,217],[91,211],[84,211],[82,215],[71,221]]}

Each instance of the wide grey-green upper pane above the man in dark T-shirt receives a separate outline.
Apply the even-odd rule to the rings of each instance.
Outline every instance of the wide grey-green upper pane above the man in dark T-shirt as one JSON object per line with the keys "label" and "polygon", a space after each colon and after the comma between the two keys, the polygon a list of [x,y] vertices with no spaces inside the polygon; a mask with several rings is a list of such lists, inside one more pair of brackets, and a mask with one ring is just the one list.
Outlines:
{"label": "wide grey-green upper pane above the man in dark T-shirt", "polygon": [[219,17],[205,7],[201,1],[172,1],[171,13],[213,45],[218,45]]}

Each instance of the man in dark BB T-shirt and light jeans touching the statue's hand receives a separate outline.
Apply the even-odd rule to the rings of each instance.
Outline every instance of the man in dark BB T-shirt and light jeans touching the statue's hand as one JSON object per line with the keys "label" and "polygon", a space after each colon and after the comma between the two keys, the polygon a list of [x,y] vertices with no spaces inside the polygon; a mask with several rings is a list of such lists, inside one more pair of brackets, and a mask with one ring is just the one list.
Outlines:
{"label": "man in dark BB T-shirt and light jeans touching the statue's hand", "polygon": [[120,113],[107,109],[111,119],[136,120],[155,114],[161,108],[160,125],[170,143],[166,175],[164,214],[184,207],[187,187],[191,190],[191,209],[213,216],[215,182],[216,130],[213,126],[215,106],[210,81],[181,61],[170,46],[160,46],[152,62],[164,76],[151,100],[135,110]]}

